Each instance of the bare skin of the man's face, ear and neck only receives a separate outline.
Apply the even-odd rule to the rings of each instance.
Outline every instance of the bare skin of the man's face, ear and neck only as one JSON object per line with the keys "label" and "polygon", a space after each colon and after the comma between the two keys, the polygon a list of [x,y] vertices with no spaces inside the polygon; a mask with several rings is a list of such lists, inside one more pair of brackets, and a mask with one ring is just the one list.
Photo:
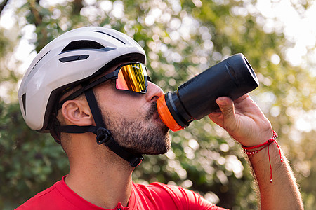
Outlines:
{"label": "bare skin of the man's face, ear and neck only", "polygon": [[[114,71],[115,67],[110,71]],[[163,92],[154,83],[149,82],[147,88],[146,94],[126,92],[117,90],[115,83],[109,81],[95,87],[93,92],[103,115],[105,115],[103,117],[105,119],[118,119],[112,120],[110,124],[117,125],[119,119],[124,118],[127,120],[133,119],[140,123],[138,132],[141,132],[144,128],[145,130],[157,130],[158,127],[160,134],[165,135],[162,138],[162,150],[156,152],[153,148],[149,148],[147,151],[141,152],[164,153],[170,147],[168,130],[166,130],[166,126],[159,119],[157,113],[148,116],[152,104],[162,96]],[[126,104],[129,106],[126,106]],[[66,125],[95,125],[85,98],[65,102],[62,105],[62,116]],[[119,132],[110,131],[121,146],[132,147],[129,144],[130,141],[127,141],[127,144],[124,143],[124,139],[120,137]],[[129,132],[126,135],[128,134]],[[131,174],[134,168],[126,160],[119,158],[106,146],[96,144],[95,135],[90,132],[67,134],[67,138],[61,139],[61,141],[70,161],[70,173],[65,179],[67,186],[88,202],[99,207],[114,209],[118,202],[127,206],[131,195]]]}

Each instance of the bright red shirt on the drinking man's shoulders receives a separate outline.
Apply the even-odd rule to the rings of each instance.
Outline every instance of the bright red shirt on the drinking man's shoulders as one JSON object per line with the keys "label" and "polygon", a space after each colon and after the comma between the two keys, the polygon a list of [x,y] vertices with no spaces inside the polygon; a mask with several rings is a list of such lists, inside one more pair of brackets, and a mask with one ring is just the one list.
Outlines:
{"label": "bright red shirt on the drinking man's shoulders", "polygon": [[[91,202],[84,200],[74,193],[65,183],[65,176],[62,180],[56,182],[50,188],[38,193],[24,204],[18,207],[22,209],[91,209],[105,210]],[[205,200],[201,195],[186,190],[179,186],[168,186],[162,183],[152,183],[150,185],[141,185],[133,183],[131,197],[129,198],[129,207],[123,207],[117,204],[115,209],[143,210],[143,209],[212,209],[222,210]]]}

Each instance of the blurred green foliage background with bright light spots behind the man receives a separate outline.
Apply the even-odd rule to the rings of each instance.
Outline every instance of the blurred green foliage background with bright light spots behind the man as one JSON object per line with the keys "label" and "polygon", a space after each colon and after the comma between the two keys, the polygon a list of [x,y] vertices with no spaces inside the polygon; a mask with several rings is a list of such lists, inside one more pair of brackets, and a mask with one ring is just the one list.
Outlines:
{"label": "blurred green foliage background with bright light spots behind the man", "polygon": [[[136,39],[147,52],[152,80],[164,91],[242,52],[261,83],[251,97],[279,134],[305,209],[315,209],[315,1],[6,0],[0,12],[0,209],[18,207],[69,171],[53,138],[25,125],[17,90],[48,41],[89,25]],[[223,129],[203,118],[171,132],[171,140],[166,155],[145,157],[135,182],[176,184],[221,207],[257,209],[251,170]]]}

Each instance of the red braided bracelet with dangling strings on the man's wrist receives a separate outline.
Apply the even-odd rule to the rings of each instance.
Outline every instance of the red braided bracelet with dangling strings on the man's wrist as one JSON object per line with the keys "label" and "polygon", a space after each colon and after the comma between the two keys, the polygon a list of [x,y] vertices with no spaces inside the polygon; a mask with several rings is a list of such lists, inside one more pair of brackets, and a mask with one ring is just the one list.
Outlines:
{"label": "red braided bracelet with dangling strings on the man's wrist", "polygon": [[[247,155],[254,155],[256,153],[258,153],[258,151],[261,151],[263,150],[264,148],[268,147],[268,157],[269,157],[269,165],[270,165],[270,183],[272,183],[272,167],[271,167],[271,161],[270,161],[270,151],[269,151],[269,146],[270,144],[272,144],[273,142],[275,142],[275,144],[277,144],[277,132],[275,132],[275,130],[272,130],[273,132],[273,136],[271,139],[269,139],[268,141],[265,141],[265,143],[263,144],[259,144],[259,145],[256,145],[256,146],[243,146],[242,145],[242,148],[244,149],[244,153],[246,153]],[[260,148],[256,151],[249,151],[251,149],[256,149],[256,148]],[[279,149],[279,158],[281,159],[281,162],[283,162],[283,158],[282,158],[282,155],[281,155],[281,150],[279,148],[279,144],[277,144],[277,148]]]}

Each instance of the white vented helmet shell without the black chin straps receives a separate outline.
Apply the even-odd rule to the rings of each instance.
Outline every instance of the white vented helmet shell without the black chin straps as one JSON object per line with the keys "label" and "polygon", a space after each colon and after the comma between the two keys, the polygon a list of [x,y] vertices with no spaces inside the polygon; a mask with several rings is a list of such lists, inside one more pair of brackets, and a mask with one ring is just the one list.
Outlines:
{"label": "white vented helmet shell without the black chin straps", "polygon": [[82,27],[55,38],[35,57],[18,91],[27,125],[48,132],[48,120],[61,90],[124,58],[145,64],[145,51],[133,38],[114,29]]}

